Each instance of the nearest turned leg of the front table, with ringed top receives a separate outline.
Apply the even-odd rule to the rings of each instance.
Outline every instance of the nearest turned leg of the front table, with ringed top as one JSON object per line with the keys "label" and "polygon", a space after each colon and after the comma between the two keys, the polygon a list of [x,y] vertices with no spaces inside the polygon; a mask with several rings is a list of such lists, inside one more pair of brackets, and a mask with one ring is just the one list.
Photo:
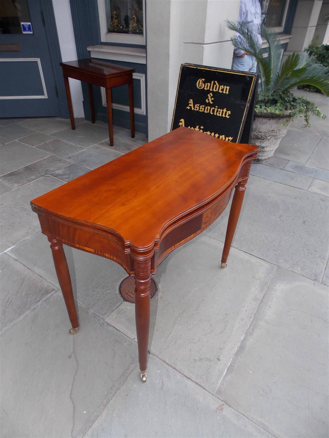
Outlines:
{"label": "nearest turned leg of the front table, with ringed top", "polygon": [[143,382],[146,381],[147,350],[150,335],[150,281],[151,260],[139,259],[134,261],[135,269],[135,317],[138,343],[139,369]]}

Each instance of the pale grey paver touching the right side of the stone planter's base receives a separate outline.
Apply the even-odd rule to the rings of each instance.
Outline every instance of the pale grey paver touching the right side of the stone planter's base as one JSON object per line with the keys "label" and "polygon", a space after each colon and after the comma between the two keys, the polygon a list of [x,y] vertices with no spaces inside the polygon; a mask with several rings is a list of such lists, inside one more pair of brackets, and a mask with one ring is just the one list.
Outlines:
{"label": "pale grey paver touching the right side of the stone planter's base", "polygon": [[286,160],[306,163],[321,140],[321,136],[311,132],[288,129],[274,155]]}

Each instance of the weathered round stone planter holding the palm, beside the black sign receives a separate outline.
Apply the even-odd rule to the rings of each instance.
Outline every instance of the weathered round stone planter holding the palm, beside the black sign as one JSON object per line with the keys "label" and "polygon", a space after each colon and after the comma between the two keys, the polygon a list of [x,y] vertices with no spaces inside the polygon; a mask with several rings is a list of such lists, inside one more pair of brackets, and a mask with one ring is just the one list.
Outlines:
{"label": "weathered round stone planter holding the palm, beside the black sign", "polygon": [[[269,113],[255,113],[250,143],[257,145],[258,155],[255,163],[269,161],[280,141],[286,135],[292,120],[290,111],[285,111],[283,116]],[[283,124],[283,126],[281,126]]]}

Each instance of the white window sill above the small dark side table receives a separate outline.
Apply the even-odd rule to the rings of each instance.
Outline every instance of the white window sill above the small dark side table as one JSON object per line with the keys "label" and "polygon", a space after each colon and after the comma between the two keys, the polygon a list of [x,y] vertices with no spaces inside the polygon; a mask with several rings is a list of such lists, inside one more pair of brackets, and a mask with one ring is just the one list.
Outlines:
{"label": "white window sill above the small dark side table", "polygon": [[146,49],[97,44],[87,47],[87,50],[92,58],[146,64]]}

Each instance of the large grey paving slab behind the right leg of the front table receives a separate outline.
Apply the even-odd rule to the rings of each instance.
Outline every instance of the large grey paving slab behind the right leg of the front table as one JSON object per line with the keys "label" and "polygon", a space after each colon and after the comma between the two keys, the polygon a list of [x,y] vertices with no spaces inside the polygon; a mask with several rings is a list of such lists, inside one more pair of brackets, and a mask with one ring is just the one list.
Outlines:
{"label": "large grey paving slab behind the right leg of the front table", "polygon": [[[229,206],[204,234],[224,242]],[[328,257],[328,198],[249,178],[232,245],[321,281]]]}

